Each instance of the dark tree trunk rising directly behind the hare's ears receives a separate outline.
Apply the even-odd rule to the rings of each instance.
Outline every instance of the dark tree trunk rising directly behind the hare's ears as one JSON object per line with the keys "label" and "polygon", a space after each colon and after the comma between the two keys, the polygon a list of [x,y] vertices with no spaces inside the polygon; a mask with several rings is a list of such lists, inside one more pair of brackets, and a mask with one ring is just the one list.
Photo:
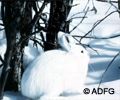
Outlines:
{"label": "dark tree trunk rising directly behind the hare's ears", "polygon": [[72,2],[73,0],[51,0],[45,51],[57,48],[57,33],[63,30]]}

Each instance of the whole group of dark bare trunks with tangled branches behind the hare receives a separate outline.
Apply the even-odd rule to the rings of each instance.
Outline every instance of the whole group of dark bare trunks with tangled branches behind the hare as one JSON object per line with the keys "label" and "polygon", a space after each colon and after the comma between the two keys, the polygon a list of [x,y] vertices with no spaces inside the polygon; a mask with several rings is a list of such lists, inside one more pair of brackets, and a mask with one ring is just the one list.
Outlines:
{"label": "whole group of dark bare trunks with tangled branches behind the hare", "polygon": [[[0,76],[0,100],[5,90],[20,90],[20,81],[23,73],[24,48],[29,40],[40,43],[35,34],[40,34],[44,50],[57,47],[57,33],[69,32],[66,21],[73,0],[44,0],[38,6],[39,0],[1,0],[1,16],[7,40],[7,50],[4,55],[2,74]],[[50,15],[47,21],[42,16],[45,6],[50,3]],[[35,15],[32,17],[32,10]],[[43,27],[40,23],[45,24]],[[47,22],[46,22],[47,21]],[[46,41],[42,35],[46,32]]]}

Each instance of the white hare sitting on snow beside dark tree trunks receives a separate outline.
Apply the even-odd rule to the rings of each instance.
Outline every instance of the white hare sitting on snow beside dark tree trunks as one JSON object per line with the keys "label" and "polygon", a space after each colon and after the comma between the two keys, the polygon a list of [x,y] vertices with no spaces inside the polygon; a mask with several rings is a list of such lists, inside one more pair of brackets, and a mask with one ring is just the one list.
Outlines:
{"label": "white hare sitting on snow beside dark tree trunks", "polygon": [[46,51],[25,70],[22,94],[28,98],[43,100],[63,92],[80,93],[87,75],[89,55],[73,41],[73,37],[59,32],[61,49]]}

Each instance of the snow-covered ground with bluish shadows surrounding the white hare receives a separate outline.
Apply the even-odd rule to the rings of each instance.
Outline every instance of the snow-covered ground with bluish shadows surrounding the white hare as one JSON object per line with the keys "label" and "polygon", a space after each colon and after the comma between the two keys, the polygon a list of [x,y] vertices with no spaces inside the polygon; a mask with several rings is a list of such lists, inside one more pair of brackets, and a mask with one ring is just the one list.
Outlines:
{"label": "snow-covered ground with bluish shadows surrounding the white hare", "polygon": [[[85,5],[89,1],[89,9],[94,6],[97,9],[97,13],[94,11],[90,11],[87,13],[83,22],[72,32],[73,35],[84,35],[95,24],[96,21],[101,20],[105,16],[107,16],[110,12],[115,11],[115,7],[111,6],[108,3],[98,2],[93,0],[74,0],[74,4],[79,4],[72,8],[69,18],[70,19],[74,14],[78,12],[74,17],[84,16],[83,9]],[[86,10],[86,9],[85,9]],[[74,19],[71,23],[70,29],[76,26],[81,19]],[[111,14],[108,18],[103,20],[91,33],[89,36],[92,37],[110,37],[114,35],[120,35],[120,18],[118,13]],[[3,39],[2,33],[0,34],[0,54],[3,55],[3,51],[5,50],[5,40]],[[88,75],[86,79],[86,88],[90,89],[90,92],[94,88],[97,89],[99,83],[101,81],[102,75],[102,83],[100,88],[113,88],[114,94],[109,94],[106,92],[105,94],[81,94],[81,95],[69,95],[61,98],[52,98],[49,100],[120,100],[120,54],[116,57],[112,64],[110,62],[113,58],[120,52],[120,37],[111,38],[111,39],[83,39],[83,43],[88,43],[94,50],[87,48],[90,53],[90,65],[88,70]],[[96,50],[96,51],[95,51]],[[29,64],[36,56],[40,54],[40,50],[37,48],[33,48],[30,44],[29,47],[26,48],[25,54],[25,64]],[[105,72],[108,65],[109,69]],[[20,93],[12,93],[6,92],[3,100],[28,100],[27,98],[21,96]]]}

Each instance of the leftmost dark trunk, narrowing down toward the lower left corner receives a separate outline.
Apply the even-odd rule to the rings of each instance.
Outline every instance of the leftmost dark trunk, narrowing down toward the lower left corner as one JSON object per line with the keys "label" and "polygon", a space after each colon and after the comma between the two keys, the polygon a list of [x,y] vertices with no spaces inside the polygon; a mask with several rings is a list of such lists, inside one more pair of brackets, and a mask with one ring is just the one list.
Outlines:
{"label": "leftmost dark trunk, narrowing down toward the lower left corner", "polygon": [[[2,2],[3,9],[3,23],[5,26],[6,40],[7,40],[7,50],[4,56],[4,67],[2,70],[2,75],[0,78],[0,97],[2,98],[3,91],[7,82],[7,77],[11,69],[10,61],[13,55],[13,49],[16,43],[16,33],[18,32],[17,19],[13,14],[13,3],[14,2]],[[13,27],[14,26],[14,27]],[[11,79],[11,78],[10,78]],[[12,79],[11,79],[12,80]],[[14,86],[14,85],[13,85]]]}

